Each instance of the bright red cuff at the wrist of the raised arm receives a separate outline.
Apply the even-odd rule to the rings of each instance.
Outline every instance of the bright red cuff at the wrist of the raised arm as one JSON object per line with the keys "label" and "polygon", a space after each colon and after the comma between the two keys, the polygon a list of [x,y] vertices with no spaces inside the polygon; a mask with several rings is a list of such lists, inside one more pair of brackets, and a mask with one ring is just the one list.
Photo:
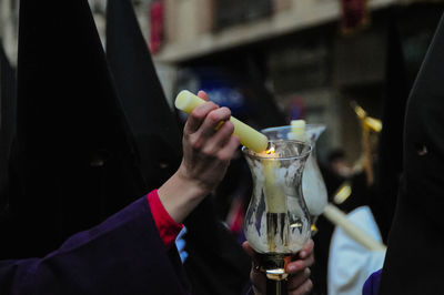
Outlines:
{"label": "bright red cuff at the wrist of the raised arm", "polygon": [[147,199],[155,226],[159,230],[160,237],[162,238],[163,244],[169,248],[175,242],[175,237],[178,237],[183,225],[176,223],[167,212],[159,199],[158,190],[149,193]]}

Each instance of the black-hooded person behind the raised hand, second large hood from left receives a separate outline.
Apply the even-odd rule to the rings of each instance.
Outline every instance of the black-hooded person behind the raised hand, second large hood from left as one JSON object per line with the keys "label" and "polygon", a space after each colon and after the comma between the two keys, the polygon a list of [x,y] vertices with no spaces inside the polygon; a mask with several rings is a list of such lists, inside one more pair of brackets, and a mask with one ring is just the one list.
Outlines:
{"label": "black-hooded person behind the raised hand, second large hood from left", "polygon": [[[134,133],[144,180],[150,190],[158,187],[180,164],[181,134],[129,0],[108,1],[107,57]],[[250,258],[216,218],[211,197],[184,223],[189,254],[184,267],[192,294],[240,294],[249,282]]]}

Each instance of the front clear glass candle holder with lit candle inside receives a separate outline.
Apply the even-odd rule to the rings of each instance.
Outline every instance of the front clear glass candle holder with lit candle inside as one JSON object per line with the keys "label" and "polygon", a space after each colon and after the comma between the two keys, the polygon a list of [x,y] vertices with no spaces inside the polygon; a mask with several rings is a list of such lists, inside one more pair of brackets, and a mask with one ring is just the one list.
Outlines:
{"label": "front clear glass candle holder with lit candle inside", "polygon": [[253,179],[244,232],[260,254],[260,269],[269,279],[281,282],[287,276],[286,263],[311,237],[302,173],[312,149],[293,140],[272,140],[269,146],[260,154],[242,149]]}

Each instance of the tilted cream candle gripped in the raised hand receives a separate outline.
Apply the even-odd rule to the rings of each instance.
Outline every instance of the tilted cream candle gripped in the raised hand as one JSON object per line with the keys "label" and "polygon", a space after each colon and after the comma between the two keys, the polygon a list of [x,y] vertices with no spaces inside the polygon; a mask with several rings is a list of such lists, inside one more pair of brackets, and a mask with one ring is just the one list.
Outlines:
{"label": "tilted cream candle gripped in the raised hand", "polygon": [[[188,90],[182,90],[175,98],[175,108],[186,113],[191,113],[195,106],[201,105],[205,101],[194,95]],[[266,150],[269,139],[261,132],[231,116],[230,121],[234,125],[234,134],[239,136],[242,145],[250,150],[261,153]]]}

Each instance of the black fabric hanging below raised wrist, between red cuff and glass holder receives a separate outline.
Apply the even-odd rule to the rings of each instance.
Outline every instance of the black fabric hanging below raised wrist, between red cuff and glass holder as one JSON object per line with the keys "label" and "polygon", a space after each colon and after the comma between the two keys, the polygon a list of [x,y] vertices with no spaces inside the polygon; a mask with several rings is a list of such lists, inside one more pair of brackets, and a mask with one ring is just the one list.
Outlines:
{"label": "black fabric hanging below raised wrist, between red cuff and glass holder", "polygon": [[184,266],[193,295],[242,294],[249,283],[251,261],[214,216],[212,200],[206,199],[185,221],[189,258]]}

